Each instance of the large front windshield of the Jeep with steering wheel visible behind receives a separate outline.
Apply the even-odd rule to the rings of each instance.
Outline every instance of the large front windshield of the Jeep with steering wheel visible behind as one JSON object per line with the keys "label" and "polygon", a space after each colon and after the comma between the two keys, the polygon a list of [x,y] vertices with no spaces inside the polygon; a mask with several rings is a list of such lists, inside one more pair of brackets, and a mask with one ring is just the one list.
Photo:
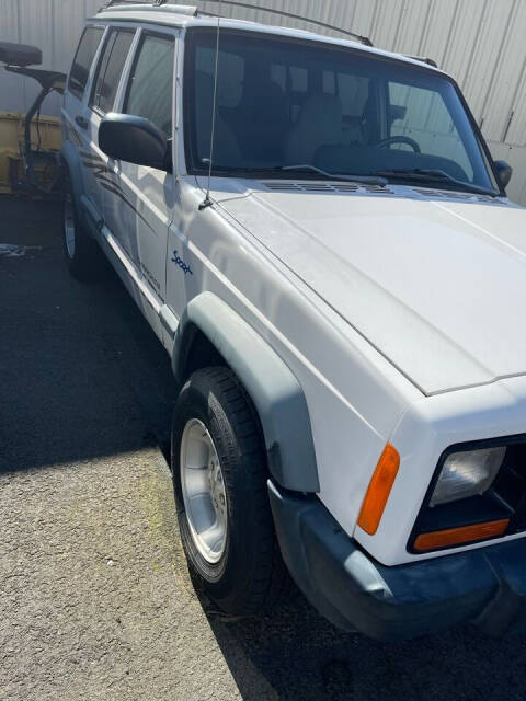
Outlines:
{"label": "large front windshield of the Jeep with steering wheel visible behind", "polygon": [[[193,30],[186,41],[194,174],[207,172],[210,158],[216,38],[215,30]],[[295,169],[495,189],[447,78],[338,45],[221,30],[213,173],[290,177]]]}

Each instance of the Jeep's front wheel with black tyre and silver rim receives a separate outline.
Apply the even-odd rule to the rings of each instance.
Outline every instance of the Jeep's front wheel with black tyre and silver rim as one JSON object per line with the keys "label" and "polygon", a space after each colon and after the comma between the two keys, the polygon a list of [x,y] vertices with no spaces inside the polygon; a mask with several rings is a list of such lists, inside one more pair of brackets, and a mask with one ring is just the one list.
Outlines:
{"label": "Jeep's front wheel with black tyre and silver rim", "polygon": [[285,594],[254,407],[231,370],[194,372],[172,422],[181,539],[194,581],[231,616],[268,610]]}

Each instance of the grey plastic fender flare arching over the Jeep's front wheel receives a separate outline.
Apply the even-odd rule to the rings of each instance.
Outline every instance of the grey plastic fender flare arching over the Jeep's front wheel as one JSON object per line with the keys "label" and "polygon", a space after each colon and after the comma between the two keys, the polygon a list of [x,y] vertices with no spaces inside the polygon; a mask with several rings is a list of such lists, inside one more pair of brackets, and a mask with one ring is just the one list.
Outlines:
{"label": "grey plastic fender flare arching over the Jeep's front wheel", "polygon": [[[204,341],[206,340],[206,341]],[[195,349],[198,349],[197,353]],[[287,490],[319,492],[307,401],[277,353],[211,292],[194,297],[175,332],[172,368],[179,387],[209,354],[236,372],[261,422],[272,476]]]}

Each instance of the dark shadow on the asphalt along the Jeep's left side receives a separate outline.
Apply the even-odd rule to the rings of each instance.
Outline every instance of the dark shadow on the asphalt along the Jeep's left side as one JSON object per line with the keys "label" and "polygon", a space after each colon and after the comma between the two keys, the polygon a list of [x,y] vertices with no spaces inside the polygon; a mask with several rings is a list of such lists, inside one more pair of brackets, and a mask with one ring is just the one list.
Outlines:
{"label": "dark shadow on the asphalt along the Jeep's left side", "polygon": [[0,472],[165,447],[170,359],[117,276],[70,277],[55,203],[0,218]]}

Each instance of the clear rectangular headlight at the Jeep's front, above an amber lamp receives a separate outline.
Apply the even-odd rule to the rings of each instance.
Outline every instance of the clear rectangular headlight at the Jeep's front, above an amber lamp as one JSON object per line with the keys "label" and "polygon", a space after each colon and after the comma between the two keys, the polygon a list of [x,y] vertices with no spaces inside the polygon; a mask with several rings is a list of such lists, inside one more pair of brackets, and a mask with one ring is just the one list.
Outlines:
{"label": "clear rectangular headlight at the Jeep's front, above an amber lamp", "polygon": [[448,504],[485,492],[499,472],[505,447],[454,452],[444,462],[430,506]]}

